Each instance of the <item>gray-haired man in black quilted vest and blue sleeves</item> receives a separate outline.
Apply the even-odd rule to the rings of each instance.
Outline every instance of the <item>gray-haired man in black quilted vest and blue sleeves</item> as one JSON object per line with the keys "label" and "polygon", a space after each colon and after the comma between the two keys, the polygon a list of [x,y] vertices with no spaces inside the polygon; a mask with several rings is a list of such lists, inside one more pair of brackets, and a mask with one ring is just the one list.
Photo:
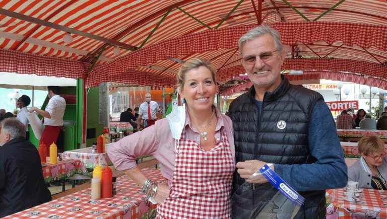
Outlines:
{"label": "gray-haired man in black quilted vest and blue sleeves", "polygon": [[[261,25],[243,35],[238,45],[253,86],[229,107],[237,162],[233,191],[245,188],[246,179],[271,163],[270,168],[306,199],[295,218],[325,218],[325,189],[347,184],[330,110],[320,94],[281,76],[285,52],[277,31]],[[234,193],[233,218],[249,218],[252,209],[270,200],[274,194],[267,182],[261,175],[247,180],[251,184],[245,192]]]}

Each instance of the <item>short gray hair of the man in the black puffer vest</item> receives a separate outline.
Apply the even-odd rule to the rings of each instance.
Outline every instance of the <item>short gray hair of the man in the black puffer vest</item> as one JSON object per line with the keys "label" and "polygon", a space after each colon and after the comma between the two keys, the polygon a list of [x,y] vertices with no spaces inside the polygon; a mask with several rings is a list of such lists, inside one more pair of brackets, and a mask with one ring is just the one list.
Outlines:
{"label": "short gray hair of the man in the black puffer vest", "polygon": [[240,54],[242,54],[242,46],[247,43],[247,41],[255,39],[256,37],[262,36],[264,34],[270,34],[273,37],[274,45],[276,46],[276,49],[278,51],[282,50],[282,42],[281,42],[281,35],[276,31],[275,29],[269,27],[268,25],[260,25],[258,27],[255,27],[247,33],[245,33],[243,36],[241,36],[238,40],[238,47]]}

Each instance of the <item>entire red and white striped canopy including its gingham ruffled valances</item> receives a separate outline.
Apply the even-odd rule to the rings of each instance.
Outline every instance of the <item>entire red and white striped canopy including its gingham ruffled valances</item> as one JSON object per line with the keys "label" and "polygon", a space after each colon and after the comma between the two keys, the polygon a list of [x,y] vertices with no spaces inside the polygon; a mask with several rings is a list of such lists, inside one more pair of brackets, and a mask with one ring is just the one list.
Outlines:
{"label": "entire red and white striped canopy including its gingham ruffled valances", "polygon": [[[386,0],[5,0],[0,6],[0,71],[84,78],[87,87],[108,81],[171,87],[181,60],[200,56],[227,81],[244,72],[236,41],[263,23],[294,47],[284,69],[387,89]],[[70,43],[63,41],[67,33]]]}

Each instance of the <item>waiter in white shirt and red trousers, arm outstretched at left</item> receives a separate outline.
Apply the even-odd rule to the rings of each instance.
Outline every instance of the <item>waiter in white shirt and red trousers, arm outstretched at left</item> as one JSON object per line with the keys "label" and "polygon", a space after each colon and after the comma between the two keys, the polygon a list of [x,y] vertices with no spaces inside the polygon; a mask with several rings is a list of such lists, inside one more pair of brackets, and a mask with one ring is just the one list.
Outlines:
{"label": "waiter in white shirt and red trousers, arm outstretched at left", "polygon": [[63,115],[66,110],[66,101],[58,95],[59,87],[48,86],[48,97],[50,100],[44,110],[32,107],[29,111],[37,112],[44,117],[44,130],[39,144],[44,143],[47,147],[47,155],[52,142],[57,143],[58,135],[63,127]]}

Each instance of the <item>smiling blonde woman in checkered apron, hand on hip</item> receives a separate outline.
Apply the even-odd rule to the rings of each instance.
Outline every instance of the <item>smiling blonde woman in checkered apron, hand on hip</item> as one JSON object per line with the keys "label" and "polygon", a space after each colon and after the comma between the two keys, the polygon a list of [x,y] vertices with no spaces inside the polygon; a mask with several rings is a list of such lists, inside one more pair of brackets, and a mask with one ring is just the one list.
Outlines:
{"label": "smiling blonde woman in checkered apron, hand on hip", "polygon": [[[215,69],[206,60],[190,59],[178,71],[177,86],[185,102],[181,134],[176,137],[168,119],[161,119],[113,143],[109,158],[160,203],[158,218],[230,218],[234,138],[231,119],[213,106]],[[137,168],[135,159],[148,154],[160,162],[168,185],[157,185]]]}

